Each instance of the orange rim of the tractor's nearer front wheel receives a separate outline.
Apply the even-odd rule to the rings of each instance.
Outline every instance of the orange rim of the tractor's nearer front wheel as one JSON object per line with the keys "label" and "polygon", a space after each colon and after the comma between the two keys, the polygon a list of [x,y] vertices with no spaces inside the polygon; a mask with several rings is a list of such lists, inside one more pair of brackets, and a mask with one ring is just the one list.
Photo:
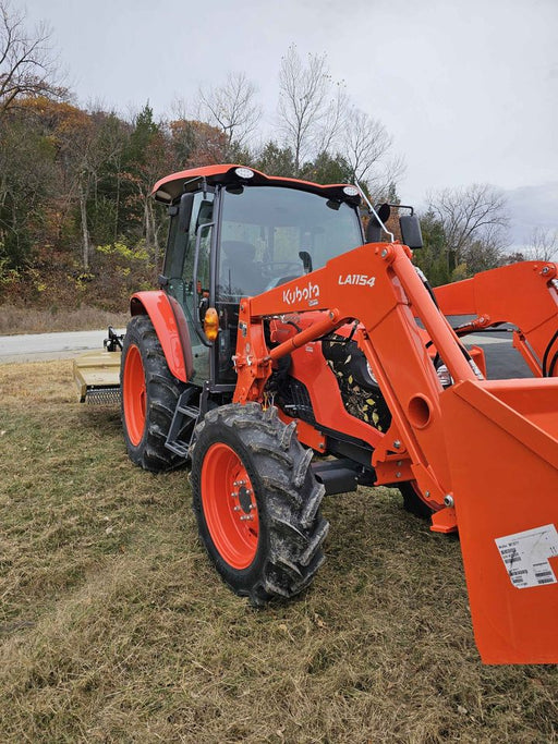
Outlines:
{"label": "orange rim of the tractor's nearer front wheel", "polygon": [[205,455],[202,503],[209,535],[221,558],[233,569],[246,569],[257,550],[257,504],[242,460],[222,442],[211,444]]}

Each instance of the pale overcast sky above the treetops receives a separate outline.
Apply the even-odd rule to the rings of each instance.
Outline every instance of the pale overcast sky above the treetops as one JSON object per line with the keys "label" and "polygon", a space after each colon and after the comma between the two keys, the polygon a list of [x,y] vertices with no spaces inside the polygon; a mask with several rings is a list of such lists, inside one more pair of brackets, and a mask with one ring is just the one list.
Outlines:
{"label": "pale overcast sky above the treetops", "polygon": [[407,169],[405,204],[472,183],[505,190],[512,242],[558,228],[558,0],[27,0],[81,105],[157,117],[245,72],[270,131],[290,44],[326,53]]}

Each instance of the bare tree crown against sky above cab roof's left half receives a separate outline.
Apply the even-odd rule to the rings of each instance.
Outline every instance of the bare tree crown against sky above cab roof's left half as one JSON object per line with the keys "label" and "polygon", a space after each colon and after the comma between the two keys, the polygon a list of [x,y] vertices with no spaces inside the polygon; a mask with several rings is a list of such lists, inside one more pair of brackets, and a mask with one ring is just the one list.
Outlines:
{"label": "bare tree crown against sky above cab roof's left half", "polygon": [[225,132],[228,150],[243,147],[262,118],[256,95],[256,86],[243,72],[232,72],[223,85],[198,90],[197,115]]}

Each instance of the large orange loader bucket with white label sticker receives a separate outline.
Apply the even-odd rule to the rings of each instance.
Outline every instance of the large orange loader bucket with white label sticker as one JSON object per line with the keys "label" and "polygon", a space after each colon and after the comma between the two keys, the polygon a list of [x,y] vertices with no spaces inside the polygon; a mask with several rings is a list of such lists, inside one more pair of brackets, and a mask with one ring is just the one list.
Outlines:
{"label": "large orange loader bucket with white label sticker", "polygon": [[557,663],[558,380],[468,380],[440,403],[481,657]]}

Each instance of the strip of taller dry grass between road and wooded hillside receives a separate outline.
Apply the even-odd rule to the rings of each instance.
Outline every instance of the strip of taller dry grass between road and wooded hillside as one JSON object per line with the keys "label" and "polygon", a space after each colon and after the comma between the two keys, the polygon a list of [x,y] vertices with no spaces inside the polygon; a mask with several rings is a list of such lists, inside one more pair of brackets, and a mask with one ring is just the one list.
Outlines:
{"label": "strip of taller dry grass between road and wooded hillside", "polygon": [[110,313],[98,307],[80,309],[43,309],[0,305],[0,336],[15,333],[49,333],[52,331],[88,331],[107,328],[123,328],[130,320],[128,313]]}

